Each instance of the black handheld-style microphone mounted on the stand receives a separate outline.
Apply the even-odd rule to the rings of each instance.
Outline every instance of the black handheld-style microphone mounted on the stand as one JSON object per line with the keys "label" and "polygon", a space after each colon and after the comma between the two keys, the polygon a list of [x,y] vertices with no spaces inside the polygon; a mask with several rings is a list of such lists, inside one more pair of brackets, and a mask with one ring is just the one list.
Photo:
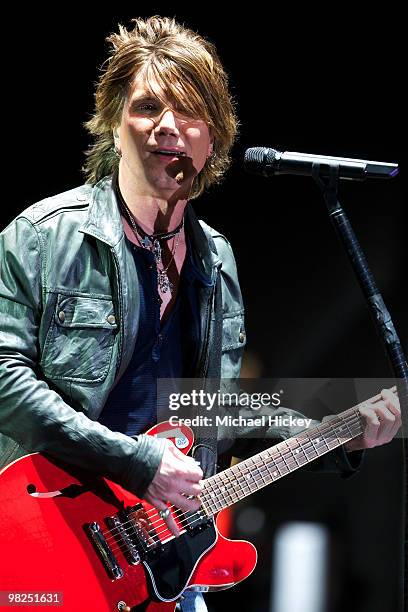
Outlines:
{"label": "black handheld-style microphone mounted on the stand", "polygon": [[247,149],[244,158],[245,170],[263,176],[274,176],[275,174],[313,176],[315,164],[320,166],[319,176],[330,176],[330,167],[335,165],[338,166],[339,178],[350,181],[364,181],[367,178],[393,178],[399,171],[398,164],[290,151],[282,153],[267,147]]}

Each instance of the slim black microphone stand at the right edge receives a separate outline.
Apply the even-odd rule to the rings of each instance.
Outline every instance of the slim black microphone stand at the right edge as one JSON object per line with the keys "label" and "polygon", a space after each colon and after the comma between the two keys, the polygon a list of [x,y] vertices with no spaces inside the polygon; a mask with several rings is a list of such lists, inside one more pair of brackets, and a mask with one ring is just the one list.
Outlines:
{"label": "slim black microphone stand at the right edge", "polygon": [[[325,164],[326,165],[326,164]],[[396,378],[398,397],[401,405],[402,420],[402,448],[403,448],[403,481],[405,483],[404,504],[402,509],[403,520],[403,580],[402,600],[403,610],[408,610],[408,366],[400,340],[391,320],[390,313],[384,303],[374,277],[368,267],[367,260],[351,227],[350,221],[344,212],[338,197],[339,165],[330,164],[330,175],[327,179],[320,176],[320,164],[313,164],[312,176],[318,184],[326,202],[329,217],[339,235],[347,252],[357,281],[366,298],[368,308],[374,320],[375,327],[384,345],[391,369]]]}

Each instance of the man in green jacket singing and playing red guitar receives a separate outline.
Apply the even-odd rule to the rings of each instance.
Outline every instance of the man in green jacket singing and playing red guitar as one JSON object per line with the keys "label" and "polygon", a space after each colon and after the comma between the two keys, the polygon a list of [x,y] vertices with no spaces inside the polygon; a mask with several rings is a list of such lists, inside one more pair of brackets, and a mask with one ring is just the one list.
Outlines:
{"label": "man in green jacket singing and playing red guitar", "polygon": [[[142,432],[156,422],[158,379],[239,376],[232,250],[189,204],[224,174],[237,120],[216,51],[194,32],[152,17],[108,40],[87,184],[33,205],[1,235],[1,464],[45,451],[85,467],[153,504],[176,535],[167,504],[200,506],[216,449],[200,440],[201,469]],[[395,435],[398,402],[383,400],[348,451]],[[228,453],[240,446],[248,452],[240,440]],[[343,450],[325,461],[354,469]]]}

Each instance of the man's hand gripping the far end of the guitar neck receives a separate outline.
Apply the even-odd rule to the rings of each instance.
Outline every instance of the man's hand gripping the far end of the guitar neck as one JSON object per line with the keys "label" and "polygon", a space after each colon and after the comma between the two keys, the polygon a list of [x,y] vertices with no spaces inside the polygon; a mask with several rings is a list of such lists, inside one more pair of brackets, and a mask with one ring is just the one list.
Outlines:
{"label": "man's hand gripping the far end of the guitar neck", "polygon": [[383,389],[381,396],[382,399],[374,404],[360,406],[365,420],[364,433],[344,445],[348,452],[387,444],[401,427],[398,396],[389,389]]}

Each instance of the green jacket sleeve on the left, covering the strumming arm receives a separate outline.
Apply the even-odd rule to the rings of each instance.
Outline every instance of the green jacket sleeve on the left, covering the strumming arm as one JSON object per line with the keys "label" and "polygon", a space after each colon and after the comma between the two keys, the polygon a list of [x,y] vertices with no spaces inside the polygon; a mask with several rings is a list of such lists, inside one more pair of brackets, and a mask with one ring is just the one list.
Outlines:
{"label": "green jacket sleeve on the left, covering the strumming arm", "polygon": [[[40,378],[41,317],[40,237],[19,217],[0,234],[0,450],[11,439],[26,452],[46,452],[143,497],[160,464],[163,440],[110,431]],[[8,462],[2,455],[0,465]]]}

